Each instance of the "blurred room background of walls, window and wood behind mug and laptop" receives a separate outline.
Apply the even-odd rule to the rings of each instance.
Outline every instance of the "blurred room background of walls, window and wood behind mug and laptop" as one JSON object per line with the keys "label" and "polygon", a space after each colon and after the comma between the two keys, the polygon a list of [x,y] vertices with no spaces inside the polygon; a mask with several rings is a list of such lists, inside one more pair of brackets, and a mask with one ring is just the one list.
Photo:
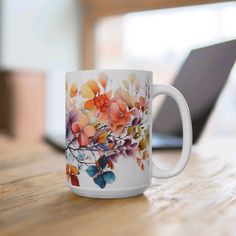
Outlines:
{"label": "blurred room background of walls, window and wood behind mug and laptop", "polygon": [[[192,49],[236,39],[235,23],[235,1],[1,0],[0,142],[64,134],[67,71],[145,69],[171,84]],[[203,136],[235,135],[235,117],[234,66]]]}

